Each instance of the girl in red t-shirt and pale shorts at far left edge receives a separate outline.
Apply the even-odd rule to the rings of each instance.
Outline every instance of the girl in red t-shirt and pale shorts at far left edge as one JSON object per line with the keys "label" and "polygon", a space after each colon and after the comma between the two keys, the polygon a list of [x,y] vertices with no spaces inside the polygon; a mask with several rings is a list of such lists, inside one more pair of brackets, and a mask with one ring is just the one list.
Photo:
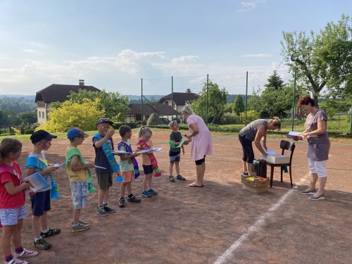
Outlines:
{"label": "girl in red t-shirt and pale shorts at far left edge", "polygon": [[[27,261],[17,257],[37,256],[37,251],[23,249],[21,230],[23,218],[27,216],[25,208],[25,190],[30,182],[23,182],[20,166],[15,160],[20,158],[22,143],[17,139],[3,139],[0,145],[0,220],[3,225],[1,247],[5,263],[25,264]],[[11,254],[11,240],[15,246],[15,256]]]}

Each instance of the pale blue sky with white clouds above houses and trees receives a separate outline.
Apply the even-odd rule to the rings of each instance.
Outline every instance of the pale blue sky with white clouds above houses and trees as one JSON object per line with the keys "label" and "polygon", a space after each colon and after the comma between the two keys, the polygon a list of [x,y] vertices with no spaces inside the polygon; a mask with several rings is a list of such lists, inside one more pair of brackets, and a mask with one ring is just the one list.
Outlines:
{"label": "pale blue sky with white clouds above houses and trees", "polygon": [[[349,13],[348,13],[349,11]],[[289,79],[282,31],[318,30],[352,1],[0,0],[0,94],[85,84],[122,94],[199,92],[206,74],[230,93]],[[153,79],[156,78],[156,79]]]}

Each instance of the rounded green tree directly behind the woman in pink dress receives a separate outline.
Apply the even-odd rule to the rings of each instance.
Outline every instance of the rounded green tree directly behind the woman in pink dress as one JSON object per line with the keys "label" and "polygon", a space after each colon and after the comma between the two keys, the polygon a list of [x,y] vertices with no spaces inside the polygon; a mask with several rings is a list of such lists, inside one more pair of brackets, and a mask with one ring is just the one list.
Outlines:
{"label": "rounded green tree directly behind the woman in pink dress", "polygon": [[[209,81],[208,118],[212,120],[212,124],[220,122],[221,116],[225,113],[228,94],[225,87],[220,89],[218,84]],[[191,103],[191,107],[197,115],[206,118],[206,82],[204,82],[203,89],[199,93],[199,98]]]}

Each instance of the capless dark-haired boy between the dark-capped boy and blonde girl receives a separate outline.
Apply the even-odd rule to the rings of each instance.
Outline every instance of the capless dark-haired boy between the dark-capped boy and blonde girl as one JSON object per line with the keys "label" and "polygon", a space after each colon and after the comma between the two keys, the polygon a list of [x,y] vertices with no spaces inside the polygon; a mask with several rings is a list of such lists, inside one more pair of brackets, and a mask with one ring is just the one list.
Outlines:
{"label": "capless dark-haired boy between the dark-capped boy and blonde girl", "polygon": [[130,139],[132,137],[131,127],[128,125],[120,126],[118,130],[122,141],[118,143],[119,151],[127,151],[131,154],[119,154],[120,156],[120,168],[122,172],[123,182],[121,184],[121,198],[118,202],[120,208],[125,207],[125,189],[127,189],[127,201],[132,203],[139,203],[141,199],[137,198],[132,194],[132,176],[134,173],[139,173],[138,163],[136,161],[137,156],[140,154],[137,152],[132,153]]}

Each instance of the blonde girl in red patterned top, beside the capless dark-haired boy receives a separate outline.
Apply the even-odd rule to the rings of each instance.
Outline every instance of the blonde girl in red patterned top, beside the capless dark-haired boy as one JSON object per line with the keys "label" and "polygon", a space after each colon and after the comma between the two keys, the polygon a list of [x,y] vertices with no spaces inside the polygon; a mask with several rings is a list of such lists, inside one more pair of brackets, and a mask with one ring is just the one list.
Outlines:
{"label": "blonde girl in red patterned top, beside the capless dark-haired boy", "polygon": [[[142,125],[142,127],[139,128],[137,133],[137,137],[139,139],[137,142],[137,151],[152,148],[152,134],[153,132],[149,127],[145,127],[144,125]],[[158,168],[158,162],[156,161],[156,158],[152,152],[153,151],[149,151],[149,153],[142,153],[142,165],[144,170],[142,196],[144,197],[151,197],[153,195],[158,194],[157,191],[151,189],[151,176],[153,175],[153,173],[155,177],[161,176],[161,172]]]}

